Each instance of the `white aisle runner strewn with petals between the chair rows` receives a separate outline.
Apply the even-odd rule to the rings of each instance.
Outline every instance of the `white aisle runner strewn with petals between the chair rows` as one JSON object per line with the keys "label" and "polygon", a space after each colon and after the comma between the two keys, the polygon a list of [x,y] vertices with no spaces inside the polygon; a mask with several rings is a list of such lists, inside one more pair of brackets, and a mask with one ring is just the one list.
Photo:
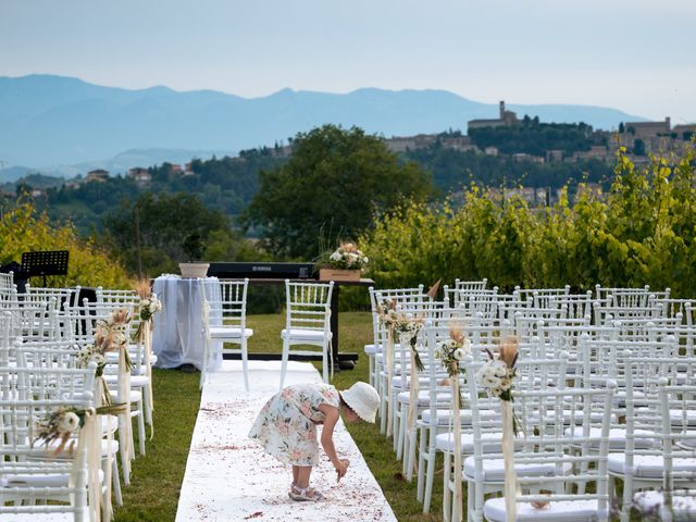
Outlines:
{"label": "white aisle runner strewn with petals between the chair rows", "polygon": [[[288,498],[291,468],[247,438],[257,413],[278,389],[279,362],[250,361],[249,372],[249,394],[244,390],[239,361],[224,361],[206,383],[176,521],[396,522],[343,422],[336,426],[334,443],[338,455],[350,459],[348,474],[336,484],[334,467],[322,450],[311,485],[326,499],[296,502]],[[286,385],[307,382],[321,382],[316,370],[290,361]]]}

